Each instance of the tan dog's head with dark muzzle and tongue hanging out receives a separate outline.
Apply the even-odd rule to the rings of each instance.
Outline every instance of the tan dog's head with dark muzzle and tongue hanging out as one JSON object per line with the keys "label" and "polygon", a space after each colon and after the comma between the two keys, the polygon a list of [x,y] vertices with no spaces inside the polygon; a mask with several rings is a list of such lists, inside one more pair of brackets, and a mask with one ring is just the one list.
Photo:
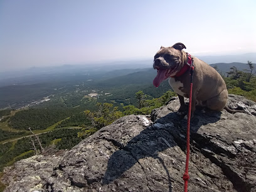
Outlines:
{"label": "tan dog's head with dark muzzle and tongue hanging out", "polygon": [[[178,43],[175,45],[177,44]],[[157,75],[153,81],[155,87],[158,87],[163,80],[166,80],[166,78],[176,75],[182,68],[181,50],[183,48],[178,47],[177,49],[175,45],[167,48],[161,47],[154,56],[153,68],[157,70]]]}

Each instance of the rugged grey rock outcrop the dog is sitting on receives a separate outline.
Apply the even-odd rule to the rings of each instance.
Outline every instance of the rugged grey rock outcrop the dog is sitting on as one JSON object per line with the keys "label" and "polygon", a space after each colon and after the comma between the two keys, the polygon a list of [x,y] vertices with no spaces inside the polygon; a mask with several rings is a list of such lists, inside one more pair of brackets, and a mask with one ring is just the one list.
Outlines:
{"label": "rugged grey rock outcrop the dog is sitting on", "polygon": [[[183,191],[186,120],[178,107],[174,98],[151,117],[122,117],[63,154],[18,161],[5,169],[5,191]],[[188,191],[256,191],[256,105],[231,95],[229,107],[251,114],[195,112]]]}

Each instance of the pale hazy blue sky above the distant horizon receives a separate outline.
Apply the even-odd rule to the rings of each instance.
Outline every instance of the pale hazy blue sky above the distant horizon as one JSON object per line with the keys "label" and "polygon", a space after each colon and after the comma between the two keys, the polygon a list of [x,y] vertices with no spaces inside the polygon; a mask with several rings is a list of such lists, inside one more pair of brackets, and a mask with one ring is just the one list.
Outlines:
{"label": "pale hazy blue sky above the distant horizon", "polygon": [[0,1],[0,70],[256,52],[256,1]]}

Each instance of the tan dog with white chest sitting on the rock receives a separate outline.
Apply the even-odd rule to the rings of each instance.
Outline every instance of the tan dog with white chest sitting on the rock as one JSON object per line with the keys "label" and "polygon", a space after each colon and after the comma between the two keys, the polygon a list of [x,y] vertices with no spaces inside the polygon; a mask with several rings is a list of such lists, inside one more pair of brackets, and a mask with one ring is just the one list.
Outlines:
{"label": "tan dog with white chest sitting on the rock", "polygon": [[[166,48],[161,46],[161,49],[154,56],[153,65],[154,69],[157,70],[156,78],[153,81],[154,86],[158,87],[163,80],[169,78],[169,84],[174,92],[178,94],[181,104],[178,114],[185,114],[184,97],[189,97],[190,91],[190,70],[188,68],[188,70],[184,71],[183,68],[187,65],[188,56],[183,51],[184,48],[186,49],[186,46],[183,43],[176,43]],[[225,108],[229,112],[243,112],[226,107],[228,91],[220,74],[213,67],[195,56],[193,56],[193,61],[195,70],[193,75],[191,118],[195,112],[196,104],[216,111],[221,111]],[[183,74],[180,73],[181,70],[184,71]]]}

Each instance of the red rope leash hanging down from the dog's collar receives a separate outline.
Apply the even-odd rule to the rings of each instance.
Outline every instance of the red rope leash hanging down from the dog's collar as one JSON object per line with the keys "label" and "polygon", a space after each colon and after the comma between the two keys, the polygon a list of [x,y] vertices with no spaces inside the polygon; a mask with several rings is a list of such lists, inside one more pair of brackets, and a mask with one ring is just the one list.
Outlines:
{"label": "red rope leash hanging down from the dog's collar", "polygon": [[[190,55],[189,55],[190,56]],[[184,192],[188,191],[188,180],[189,180],[189,174],[188,174],[188,163],[189,163],[189,130],[190,130],[190,118],[191,118],[191,99],[192,99],[192,88],[193,88],[193,72],[194,72],[194,66],[193,66],[193,58],[191,59],[191,67],[190,67],[190,94],[189,94],[189,105],[188,105],[188,124],[187,124],[187,141],[186,141],[186,169],[185,173],[183,175],[184,180]]]}

